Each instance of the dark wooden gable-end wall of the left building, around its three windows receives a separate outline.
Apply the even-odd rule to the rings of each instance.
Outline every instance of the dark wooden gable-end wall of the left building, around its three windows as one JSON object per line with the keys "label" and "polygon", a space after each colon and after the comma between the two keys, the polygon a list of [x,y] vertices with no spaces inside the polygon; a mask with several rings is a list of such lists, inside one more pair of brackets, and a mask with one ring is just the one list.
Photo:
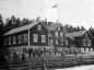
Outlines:
{"label": "dark wooden gable-end wall of the left building, around its three windows", "polygon": [[[37,31],[37,25],[42,25],[42,31]],[[48,31],[43,24],[38,23],[33,28],[30,30],[30,44],[31,46],[48,46]],[[38,42],[34,43],[33,34],[38,35]],[[42,43],[42,35],[46,35],[46,43]]]}

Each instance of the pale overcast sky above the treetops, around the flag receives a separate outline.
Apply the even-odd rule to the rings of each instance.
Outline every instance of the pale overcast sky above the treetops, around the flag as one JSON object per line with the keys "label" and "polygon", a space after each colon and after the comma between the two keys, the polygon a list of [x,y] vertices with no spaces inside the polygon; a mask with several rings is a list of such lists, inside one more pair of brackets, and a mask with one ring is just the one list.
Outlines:
{"label": "pale overcast sky above the treetops, around the flag", "polygon": [[[57,8],[52,8],[57,3]],[[15,18],[40,19],[73,26],[94,27],[94,0],[0,0],[3,20]]]}

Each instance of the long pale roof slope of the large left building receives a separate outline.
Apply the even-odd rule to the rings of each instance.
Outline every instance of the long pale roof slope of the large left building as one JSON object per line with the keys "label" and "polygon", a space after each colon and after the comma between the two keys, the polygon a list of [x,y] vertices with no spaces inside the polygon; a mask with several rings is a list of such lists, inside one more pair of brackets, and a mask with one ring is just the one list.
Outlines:
{"label": "long pale roof slope of the large left building", "polygon": [[38,23],[39,22],[34,22],[34,23],[31,23],[28,25],[24,25],[24,26],[21,26],[21,27],[17,27],[17,28],[13,28],[13,30],[9,31],[8,33],[5,33],[3,36],[30,30],[30,28],[34,27],[36,24],[38,24]]}

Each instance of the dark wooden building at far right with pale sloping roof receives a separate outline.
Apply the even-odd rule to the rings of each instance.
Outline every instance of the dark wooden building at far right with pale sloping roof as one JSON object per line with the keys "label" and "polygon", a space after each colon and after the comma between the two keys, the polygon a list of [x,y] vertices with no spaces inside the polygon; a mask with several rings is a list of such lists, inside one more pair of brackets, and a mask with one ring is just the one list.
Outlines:
{"label": "dark wooden building at far right with pale sloping roof", "polygon": [[69,40],[69,46],[74,45],[81,50],[81,52],[93,51],[93,36],[89,31],[79,31],[73,33],[67,33],[67,37],[73,38]]}

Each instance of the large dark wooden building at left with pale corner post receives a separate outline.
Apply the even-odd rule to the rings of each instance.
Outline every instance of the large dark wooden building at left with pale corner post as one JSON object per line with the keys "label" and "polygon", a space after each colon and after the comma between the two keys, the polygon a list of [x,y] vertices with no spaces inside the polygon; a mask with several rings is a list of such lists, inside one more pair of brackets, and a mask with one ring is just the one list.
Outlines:
{"label": "large dark wooden building at left with pale corner post", "polygon": [[48,46],[48,30],[42,22],[34,22],[9,31],[3,39],[4,46],[10,49],[42,48]]}

